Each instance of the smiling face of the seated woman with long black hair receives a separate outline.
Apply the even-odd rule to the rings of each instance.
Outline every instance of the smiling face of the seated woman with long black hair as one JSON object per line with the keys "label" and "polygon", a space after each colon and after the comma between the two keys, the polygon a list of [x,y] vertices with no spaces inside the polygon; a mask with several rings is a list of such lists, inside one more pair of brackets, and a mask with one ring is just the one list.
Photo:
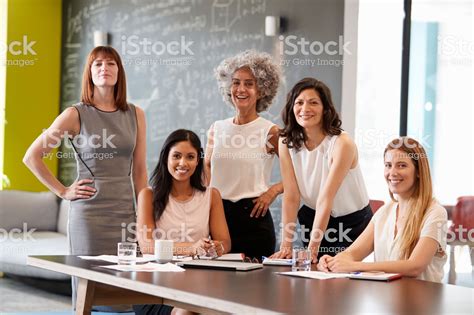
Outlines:
{"label": "smiling face of the seated woman with long black hair", "polygon": [[191,178],[199,162],[198,152],[189,141],[181,141],[171,147],[168,154],[168,172],[176,181]]}

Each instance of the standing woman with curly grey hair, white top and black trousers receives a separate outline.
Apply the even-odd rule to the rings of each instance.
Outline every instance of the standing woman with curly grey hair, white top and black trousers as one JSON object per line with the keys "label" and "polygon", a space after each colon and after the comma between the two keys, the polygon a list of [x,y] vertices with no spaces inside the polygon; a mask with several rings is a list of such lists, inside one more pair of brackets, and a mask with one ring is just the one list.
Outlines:
{"label": "standing woman with curly grey hair, white top and black trousers", "polygon": [[270,184],[279,128],[259,116],[278,90],[280,69],[267,53],[253,50],[227,58],[216,69],[224,101],[234,117],[218,120],[209,129],[206,171],[217,188],[232,242],[232,252],[260,259],[275,250],[271,203],[283,192]]}

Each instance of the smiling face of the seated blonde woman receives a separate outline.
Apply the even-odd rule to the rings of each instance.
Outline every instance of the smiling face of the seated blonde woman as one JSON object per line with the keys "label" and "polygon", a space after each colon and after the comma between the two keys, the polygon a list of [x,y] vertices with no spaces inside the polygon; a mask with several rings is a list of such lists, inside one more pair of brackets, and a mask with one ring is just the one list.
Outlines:
{"label": "smiling face of the seated blonde woman", "polygon": [[404,151],[393,149],[385,153],[384,176],[388,189],[399,198],[408,200],[416,188],[416,167]]}

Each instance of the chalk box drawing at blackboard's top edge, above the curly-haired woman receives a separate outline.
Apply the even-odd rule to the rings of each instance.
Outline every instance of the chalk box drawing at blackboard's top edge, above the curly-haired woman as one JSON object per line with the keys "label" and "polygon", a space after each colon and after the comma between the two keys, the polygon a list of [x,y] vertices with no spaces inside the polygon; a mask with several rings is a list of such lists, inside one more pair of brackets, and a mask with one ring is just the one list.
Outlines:
{"label": "chalk box drawing at blackboard's top edge, above the curly-haired woman", "polygon": [[241,18],[240,0],[214,0],[211,17],[211,32],[229,32]]}

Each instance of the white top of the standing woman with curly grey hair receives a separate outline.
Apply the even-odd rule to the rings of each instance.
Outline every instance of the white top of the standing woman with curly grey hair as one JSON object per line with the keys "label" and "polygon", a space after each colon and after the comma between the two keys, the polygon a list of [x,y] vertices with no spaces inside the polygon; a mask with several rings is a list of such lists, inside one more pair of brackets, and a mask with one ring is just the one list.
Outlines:
{"label": "white top of the standing woman with curly grey hair", "polygon": [[275,154],[267,153],[266,144],[274,125],[262,117],[244,125],[234,124],[233,118],[214,123],[210,186],[222,199],[258,197],[270,188]]}

